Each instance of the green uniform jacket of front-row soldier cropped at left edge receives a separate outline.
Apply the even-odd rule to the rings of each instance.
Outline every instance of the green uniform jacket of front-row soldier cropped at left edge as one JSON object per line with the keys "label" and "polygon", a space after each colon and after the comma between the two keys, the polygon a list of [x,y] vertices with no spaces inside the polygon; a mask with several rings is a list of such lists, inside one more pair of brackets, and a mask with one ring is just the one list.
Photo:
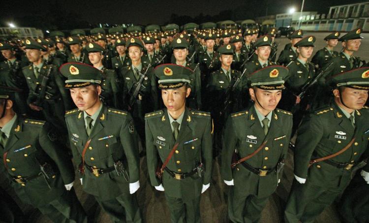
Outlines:
{"label": "green uniform jacket of front-row soldier cropped at left edge", "polygon": [[[47,179],[51,188],[43,175],[24,184],[10,181],[18,197],[36,207],[59,198],[65,192],[64,184],[74,181],[72,162],[62,143],[57,142],[56,134],[44,121],[24,119],[18,115],[5,148],[0,146],[1,163],[5,165],[10,179],[36,175],[40,173],[40,164],[45,162],[52,165],[54,176]],[[2,162],[4,153],[5,163]]]}

